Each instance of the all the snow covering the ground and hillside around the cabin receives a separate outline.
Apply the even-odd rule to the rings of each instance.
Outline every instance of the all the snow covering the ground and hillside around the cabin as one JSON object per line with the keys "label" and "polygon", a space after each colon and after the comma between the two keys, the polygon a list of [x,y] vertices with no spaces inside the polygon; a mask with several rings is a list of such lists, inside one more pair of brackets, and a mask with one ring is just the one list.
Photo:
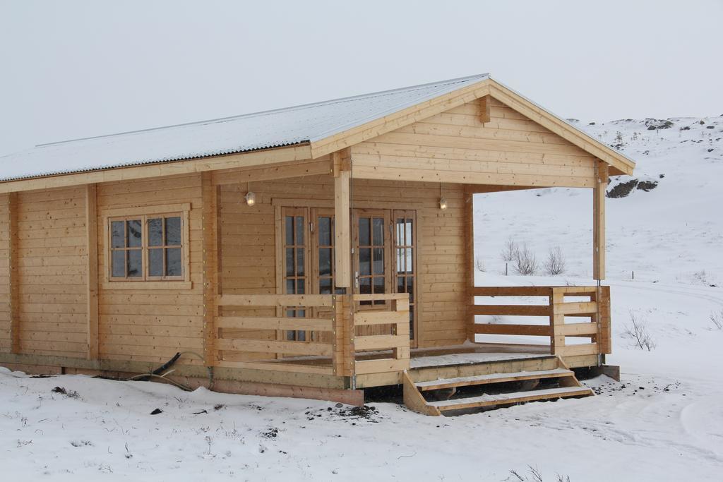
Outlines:
{"label": "all the snow covering the ground and hillside around the cabin", "polygon": [[[510,470],[532,480],[529,466],[544,481],[720,480],[723,330],[709,316],[723,318],[723,288],[710,286],[723,280],[722,120],[672,119],[659,131],[644,121],[586,127],[611,143],[621,132],[639,161],[636,177],[660,183],[609,199],[608,363],[622,367],[623,380],[589,381],[599,396],[434,418],[391,403],[357,413],[313,400],[0,369],[0,467],[17,481],[517,481]],[[475,210],[479,284],[591,283],[589,194],[493,194],[478,197]],[[500,275],[508,236],[541,259],[561,246],[568,272]],[[623,335],[630,312],[646,320],[654,350]],[[163,412],[150,415],[156,408]]]}

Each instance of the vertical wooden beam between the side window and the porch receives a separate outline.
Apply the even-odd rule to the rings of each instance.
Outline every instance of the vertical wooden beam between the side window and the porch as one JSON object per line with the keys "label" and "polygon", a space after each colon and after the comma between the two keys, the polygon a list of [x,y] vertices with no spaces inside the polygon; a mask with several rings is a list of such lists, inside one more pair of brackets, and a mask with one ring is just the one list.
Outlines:
{"label": "vertical wooden beam between the side window and the porch", "polygon": [[203,268],[203,359],[205,366],[217,363],[216,338],[218,329],[218,303],[216,297],[221,293],[219,283],[219,240],[218,240],[218,191],[214,186],[210,172],[201,173],[202,199],[202,268]]}

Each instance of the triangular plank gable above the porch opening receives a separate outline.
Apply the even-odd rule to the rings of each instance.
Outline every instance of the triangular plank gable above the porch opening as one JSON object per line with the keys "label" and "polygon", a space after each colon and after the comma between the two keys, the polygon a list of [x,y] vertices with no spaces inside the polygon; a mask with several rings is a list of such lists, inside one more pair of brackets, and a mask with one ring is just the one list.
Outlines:
{"label": "triangular plank gable above the porch opening", "polygon": [[351,147],[358,176],[518,186],[593,186],[594,157],[489,99],[482,123],[479,101],[467,103]]}

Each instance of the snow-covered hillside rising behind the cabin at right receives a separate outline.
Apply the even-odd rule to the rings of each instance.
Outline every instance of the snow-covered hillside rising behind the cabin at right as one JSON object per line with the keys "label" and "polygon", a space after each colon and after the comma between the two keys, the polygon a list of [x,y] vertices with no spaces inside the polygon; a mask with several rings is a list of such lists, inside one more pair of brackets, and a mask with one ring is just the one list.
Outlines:
{"label": "snow-covered hillside rising behind the cabin at right", "polygon": [[[612,178],[609,191],[644,181],[607,199],[608,278],[634,271],[636,280],[723,283],[723,116],[572,122],[636,161],[635,175]],[[568,275],[591,276],[589,189],[478,194],[475,214],[475,253],[488,272],[504,271],[500,251],[511,237],[541,264],[560,246]]]}

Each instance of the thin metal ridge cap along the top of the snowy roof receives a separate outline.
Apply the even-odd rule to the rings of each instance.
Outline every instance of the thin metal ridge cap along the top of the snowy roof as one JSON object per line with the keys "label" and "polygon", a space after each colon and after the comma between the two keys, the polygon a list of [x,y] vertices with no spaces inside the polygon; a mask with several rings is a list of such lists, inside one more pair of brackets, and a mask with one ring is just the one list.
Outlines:
{"label": "thin metal ridge cap along the top of the snowy roof", "polygon": [[333,105],[333,104],[337,104],[337,103],[351,102],[353,100],[359,100],[361,98],[382,97],[384,95],[392,95],[397,92],[409,92],[412,90],[420,90],[425,87],[431,87],[432,85],[438,85],[438,86],[442,87],[444,85],[458,84],[461,82],[467,82],[472,79],[484,79],[486,77],[489,77],[489,73],[469,75],[466,77],[457,77],[455,79],[447,79],[447,80],[441,80],[441,81],[437,81],[437,82],[428,82],[426,84],[411,85],[408,87],[397,87],[395,89],[380,90],[378,92],[369,92],[368,94],[350,95],[348,97],[329,99],[329,100],[321,100],[321,101],[312,102],[312,103],[299,104],[298,106],[289,106],[289,107],[270,109],[268,111],[249,112],[249,113],[239,114],[236,116],[219,117],[217,119],[208,119],[205,121],[184,122],[181,124],[171,124],[168,126],[150,127],[148,129],[137,129],[134,131],[115,132],[114,134],[100,134],[98,136],[78,137],[77,139],[66,139],[66,140],[56,141],[56,142],[45,142],[43,144],[37,144],[37,145],[35,145],[35,147],[49,147],[49,146],[54,146],[54,145],[67,144],[70,142],[86,141],[86,140],[90,140],[90,139],[105,139],[108,137],[124,136],[124,135],[129,135],[129,134],[140,134],[142,132],[153,132],[153,131],[158,131],[161,129],[171,129],[174,127],[197,126],[197,125],[202,125],[202,124],[215,124],[215,123],[221,123],[221,122],[227,122],[227,121],[234,121],[234,120],[242,119],[242,118],[252,118],[252,117],[256,117],[256,116],[268,116],[270,114],[278,113],[278,112],[299,111],[302,109],[315,108],[318,106],[328,106],[328,105]]}

